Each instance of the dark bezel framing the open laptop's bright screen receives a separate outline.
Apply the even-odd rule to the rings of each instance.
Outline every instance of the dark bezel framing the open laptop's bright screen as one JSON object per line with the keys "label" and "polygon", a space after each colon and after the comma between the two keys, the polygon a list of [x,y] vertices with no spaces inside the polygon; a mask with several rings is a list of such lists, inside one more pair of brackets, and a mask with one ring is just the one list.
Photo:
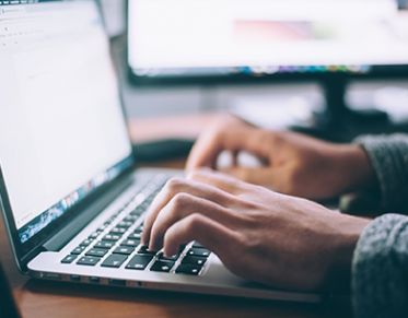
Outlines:
{"label": "dark bezel framing the open laptop's bright screen", "polygon": [[[102,23],[101,27],[103,27],[104,30],[106,40],[109,40],[107,33],[106,33],[106,26],[105,26],[104,20],[102,19],[101,7],[97,4],[98,2],[96,2],[95,0],[86,0],[86,1],[90,1],[90,2],[92,1],[95,3],[95,8],[97,8],[98,14],[101,16],[101,23]],[[56,2],[59,2],[59,0]],[[68,2],[68,1],[61,1],[61,2]],[[20,5],[31,5],[31,4],[32,3],[20,4]],[[114,68],[116,70],[115,76],[117,79],[117,82],[119,83],[118,70],[117,70],[117,67],[115,66],[112,50],[109,50],[109,56],[110,56],[110,62],[114,64]],[[124,98],[123,98],[120,85],[118,85],[118,93],[119,93],[120,108],[121,108],[121,113],[124,116],[124,122],[126,123],[128,117],[127,117],[125,105],[124,105]],[[127,129],[127,134],[128,134],[128,141],[129,141],[129,146],[130,146],[129,155],[124,157],[121,161],[119,161],[112,167],[108,167],[106,170],[109,170],[110,168],[114,168],[118,165],[124,165],[125,168],[115,178],[97,187],[94,191],[92,191],[78,204],[67,210],[66,213],[63,213],[60,217],[58,217],[57,220],[48,224],[45,228],[39,231],[37,234],[35,234],[24,244],[21,243],[20,240],[19,231],[16,228],[16,224],[14,221],[9,195],[8,195],[7,187],[5,187],[5,181],[4,181],[3,174],[2,174],[2,168],[0,165],[0,210],[2,210],[3,212],[2,213],[3,220],[4,220],[4,224],[5,224],[8,234],[9,234],[12,249],[14,251],[15,261],[21,271],[26,272],[27,262],[31,259],[33,259],[36,255],[38,255],[42,250],[44,250],[43,246],[49,238],[51,238],[61,228],[67,226],[67,224],[69,224],[74,217],[79,216],[81,212],[85,210],[86,207],[89,207],[92,202],[95,201],[95,199],[100,198],[104,192],[112,189],[112,187],[114,187],[117,182],[119,182],[124,178],[124,176],[129,175],[135,169],[136,167],[135,149],[132,148],[130,132],[128,129]]]}

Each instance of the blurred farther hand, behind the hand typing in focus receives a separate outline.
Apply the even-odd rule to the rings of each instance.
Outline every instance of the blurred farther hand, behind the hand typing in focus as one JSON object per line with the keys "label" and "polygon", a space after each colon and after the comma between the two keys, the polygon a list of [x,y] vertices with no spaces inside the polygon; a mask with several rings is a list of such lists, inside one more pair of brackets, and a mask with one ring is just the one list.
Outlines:
{"label": "blurred farther hand, behind the hand typing in focus", "polygon": [[234,156],[249,152],[261,167],[222,169],[244,181],[278,192],[313,199],[330,199],[359,190],[374,179],[365,151],[359,145],[334,144],[289,131],[269,131],[225,117],[205,131],[195,144],[187,169],[217,169],[221,152]]}

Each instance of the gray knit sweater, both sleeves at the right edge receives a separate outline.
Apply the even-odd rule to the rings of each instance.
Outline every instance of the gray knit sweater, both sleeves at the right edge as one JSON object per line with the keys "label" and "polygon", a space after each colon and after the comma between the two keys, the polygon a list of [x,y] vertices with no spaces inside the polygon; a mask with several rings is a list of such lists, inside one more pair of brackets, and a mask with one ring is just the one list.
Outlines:
{"label": "gray knit sweater, both sleeves at the right edge", "polygon": [[380,184],[382,210],[362,233],[352,264],[357,318],[408,317],[408,136],[364,137]]}

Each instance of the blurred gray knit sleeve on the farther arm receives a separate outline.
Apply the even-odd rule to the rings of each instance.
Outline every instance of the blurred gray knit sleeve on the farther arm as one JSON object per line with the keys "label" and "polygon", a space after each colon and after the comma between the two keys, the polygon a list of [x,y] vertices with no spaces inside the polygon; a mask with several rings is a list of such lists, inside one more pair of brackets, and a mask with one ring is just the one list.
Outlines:
{"label": "blurred gray knit sleeve on the farther arm", "polygon": [[382,210],[408,212],[408,134],[369,136],[355,143],[366,151],[375,170]]}

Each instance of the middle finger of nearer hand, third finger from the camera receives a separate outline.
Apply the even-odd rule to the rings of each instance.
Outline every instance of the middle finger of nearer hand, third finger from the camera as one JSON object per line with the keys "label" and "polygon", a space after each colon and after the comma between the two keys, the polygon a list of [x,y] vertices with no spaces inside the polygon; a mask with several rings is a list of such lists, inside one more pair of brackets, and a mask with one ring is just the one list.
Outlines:
{"label": "middle finger of nearer hand, third finger from the camera", "polygon": [[160,211],[167,205],[177,193],[189,193],[191,196],[213,201],[220,205],[228,205],[231,201],[233,201],[233,196],[231,193],[222,191],[217,187],[205,185],[196,180],[186,180],[179,178],[171,179],[164,189],[153,200],[144,219],[144,228],[142,234],[143,244],[149,242],[151,228]]}

